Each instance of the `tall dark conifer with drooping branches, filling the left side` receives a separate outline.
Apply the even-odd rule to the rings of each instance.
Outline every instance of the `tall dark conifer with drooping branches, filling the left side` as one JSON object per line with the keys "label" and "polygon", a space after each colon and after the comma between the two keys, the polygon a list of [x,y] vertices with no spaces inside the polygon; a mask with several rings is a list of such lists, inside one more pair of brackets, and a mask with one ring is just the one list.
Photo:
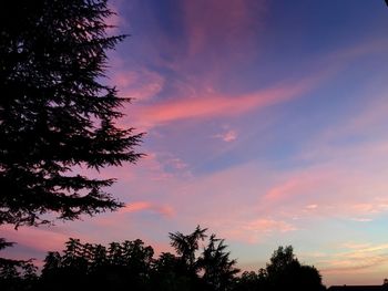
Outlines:
{"label": "tall dark conifer with drooping branches, filling the left side", "polygon": [[[115,121],[129,98],[102,82],[106,0],[18,0],[0,10],[0,225],[40,225],[114,210],[114,179],[72,174],[135,163],[142,134]],[[44,216],[52,214],[50,218]]]}

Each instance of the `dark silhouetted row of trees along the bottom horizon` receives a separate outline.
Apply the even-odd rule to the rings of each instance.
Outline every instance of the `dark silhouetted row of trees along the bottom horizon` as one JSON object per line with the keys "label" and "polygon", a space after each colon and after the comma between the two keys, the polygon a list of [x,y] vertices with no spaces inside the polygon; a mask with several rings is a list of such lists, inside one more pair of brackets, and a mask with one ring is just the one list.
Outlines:
{"label": "dark silhouetted row of trees along the bottom horizon", "polygon": [[241,272],[224,240],[206,231],[170,233],[175,253],[159,258],[140,239],[105,247],[71,238],[61,253],[48,252],[40,274],[29,261],[0,261],[0,290],[326,290],[290,246],[275,250],[266,268]]}

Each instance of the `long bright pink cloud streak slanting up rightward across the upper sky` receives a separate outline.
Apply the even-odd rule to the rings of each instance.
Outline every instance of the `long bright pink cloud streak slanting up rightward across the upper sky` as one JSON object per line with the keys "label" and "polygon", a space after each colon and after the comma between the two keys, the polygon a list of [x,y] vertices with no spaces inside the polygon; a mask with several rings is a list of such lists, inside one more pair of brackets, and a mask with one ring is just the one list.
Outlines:
{"label": "long bright pink cloud streak slanting up rightward across the upper sky", "polygon": [[[215,80],[210,77],[207,73],[206,76],[193,75],[190,71],[186,72],[185,69],[178,67],[176,71],[186,76],[184,79],[185,82],[180,83],[177,86],[177,89],[181,87],[181,90],[177,90],[173,93],[171,98],[164,100],[163,102],[153,102],[141,105],[135,104],[136,110],[133,117],[137,124],[136,127],[150,128],[155,125],[163,125],[180,119],[238,116],[252,111],[257,111],[302,97],[303,94],[307,93],[309,90],[336,75],[351,61],[386,46],[387,42],[374,42],[368,45],[363,43],[353,48],[338,50],[326,56],[318,58],[317,61],[313,62],[313,65],[308,62],[309,65],[305,69],[305,71],[309,72],[307,77],[288,81],[283,80],[283,82],[273,85],[272,87],[241,95],[219,94],[215,89]],[[325,63],[324,66],[323,63]],[[232,64],[228,63],[228,66],[231,65]],[[217,75],[225,70],[213,66],[210,71],[210,74]],[[151,72],[147,74],[152,75]],[[131,80],[131,76],[127,77]],[[119,83],[125,83],[125,76],[118,76]],[[151,81],[149,86],[144,85],[144,89],[140,90],[139,93],[134,92],[134,95],[151,96],[157,94],[157,92],[162,90],[164,81],[161,80],[156,73],[155,76],[150,76],[150,80],[154,81]],[[205,83],[203,83],[203,81]],[[196,86],[193,84],[196,84]],[[202,90],[198,91],[196,90],[197,87],[201,87]],[[143,91],[146,93],[143,93]],[[129,96],[131,94],[129,94]],[[386,106],[384,107],[386,108]],[[378,112],[380,113],[382,110],[380,108]],[[379,116],[385,116],[385,112],[386,110],[384,110]],[[365,123],[368,123],[368,121],[365,121]]]}

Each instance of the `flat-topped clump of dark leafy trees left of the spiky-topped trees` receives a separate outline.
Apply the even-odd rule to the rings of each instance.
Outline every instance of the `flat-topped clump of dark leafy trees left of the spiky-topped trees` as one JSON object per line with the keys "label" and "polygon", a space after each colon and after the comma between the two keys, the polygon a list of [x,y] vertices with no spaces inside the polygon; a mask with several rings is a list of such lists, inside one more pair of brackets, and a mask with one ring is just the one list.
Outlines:
{"label": "flat-topped clump of dark leafy trees left of the spiky-topped trees", "polygon": [[62,256],[49,252],[45,257],[40,289],[147,290],[153,253],[140,239],[111,242],[106,248],[71,238]]}

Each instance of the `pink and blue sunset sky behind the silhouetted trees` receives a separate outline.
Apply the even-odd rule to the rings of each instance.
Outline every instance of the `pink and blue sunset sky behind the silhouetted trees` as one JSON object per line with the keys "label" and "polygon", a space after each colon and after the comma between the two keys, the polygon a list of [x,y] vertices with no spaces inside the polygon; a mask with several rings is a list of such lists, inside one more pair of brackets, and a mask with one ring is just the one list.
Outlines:
{"label": "pink and blue sunset sky behind the silhouetted trees", "polygon": [[[294,247],[324,283],[388,277],[388,8],[382,0],[114,0],[130,38],[110,52],[136,165],[105,168],[126,206],[52,227],[12,226],[14,258],[69,237],[141,238],[200,225],[243,270]],[[84,170],[84,169],[82,169]],[[91,174],[91,175],[96,175]]]}

